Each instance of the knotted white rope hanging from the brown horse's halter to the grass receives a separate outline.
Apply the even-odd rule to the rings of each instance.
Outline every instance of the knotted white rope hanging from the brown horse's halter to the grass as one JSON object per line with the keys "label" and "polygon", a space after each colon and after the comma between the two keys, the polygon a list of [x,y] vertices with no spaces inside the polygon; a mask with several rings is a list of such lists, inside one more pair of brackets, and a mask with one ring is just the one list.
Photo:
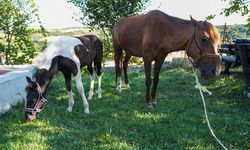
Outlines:
{"label": "knotted white rope hanging from the brown horse's halter to the grass", "polygon": [[224,150],[227,150],[226,146],[224,146],[222,144],[222,142],[216,137],[216,135],[214,134],[213,132],[213,129],[210,125],[210,122],[209,122],[209,119],[208,119],[208,115],[207,115],[207,108],[206,108],[206,102],[205,102],[205,99],[204,99],[204,95],[203,95],[203,92],[207,92],[209,95],[212,94],[212,92],[208,91],[206,89],[206,87],[202,86],[200,83],[199,83],[199,79],[197,77],[197,74],[196,74],[196,69],[193,67],[193,75],[195,77],[195,81],[196,81],[196,85],[195,85],[195,88],[199,89],[200,91],[200,95],[201,95],[201,98],[202,98],[202,101],[203,101],[203,106],[204,106],[204,113],[205,113],[205,116],[206,116],[206,122],[207,122],[207,125],[208,125],[208,128],[211,132],[211,134],[213,135],[213,137],[216,139],[216,141],[223,147]]}

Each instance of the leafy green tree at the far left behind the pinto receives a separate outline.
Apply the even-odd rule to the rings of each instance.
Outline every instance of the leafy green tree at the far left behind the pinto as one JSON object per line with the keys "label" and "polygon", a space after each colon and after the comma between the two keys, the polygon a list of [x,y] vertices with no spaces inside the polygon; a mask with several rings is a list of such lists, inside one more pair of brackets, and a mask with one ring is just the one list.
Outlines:
{"label": "leafy green tree at the far left behind the pinto", "polygon": [[[31,62],[35,56],[35,47],[29,25],[39,19],[33,0],[0,0],[0,52],[5,54],[5,64],[23,64]],[[41,22],[40,22],[41,23]],[[45,35],[41,26],[40,30]]]}

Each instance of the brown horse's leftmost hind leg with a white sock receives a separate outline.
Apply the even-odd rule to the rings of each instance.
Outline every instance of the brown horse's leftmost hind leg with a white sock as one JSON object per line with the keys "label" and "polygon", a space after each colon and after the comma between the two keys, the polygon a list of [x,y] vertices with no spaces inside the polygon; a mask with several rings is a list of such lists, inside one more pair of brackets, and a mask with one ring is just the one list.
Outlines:
{"label": "brown horse's leftmost hind leg with a white sock", "polygon": [[122,92],[122,49],[114,48],[115,51],[115,73],[116,73],[116,90]]}

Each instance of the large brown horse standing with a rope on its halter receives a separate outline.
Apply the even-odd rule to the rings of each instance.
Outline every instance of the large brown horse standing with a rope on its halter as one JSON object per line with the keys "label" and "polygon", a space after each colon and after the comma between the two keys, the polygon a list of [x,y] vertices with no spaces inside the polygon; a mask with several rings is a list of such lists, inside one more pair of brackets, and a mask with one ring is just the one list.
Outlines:
{"label": "large brown horse standing with a rope on its halter", "polygon": [[[130,16],[119,20],[113,28],[112,39],[116,69],[116,89],[121,92],[121,72],[124,70],[125,84],[129,88],[127,74],[131,56],[142,57],[146,75],[146,104],[149,109],[155,104],[159,72],[165,57],[175,51],[185,50],[192,64],[199,68],[205,79],[220,72],[218,54],[219,33],[207,21],[191,21],[169,16],[159,10],[147,14]],[[123,50],[125,59],[122,62]],[[154,65],[153,87],[151,86],[151,63]]]}

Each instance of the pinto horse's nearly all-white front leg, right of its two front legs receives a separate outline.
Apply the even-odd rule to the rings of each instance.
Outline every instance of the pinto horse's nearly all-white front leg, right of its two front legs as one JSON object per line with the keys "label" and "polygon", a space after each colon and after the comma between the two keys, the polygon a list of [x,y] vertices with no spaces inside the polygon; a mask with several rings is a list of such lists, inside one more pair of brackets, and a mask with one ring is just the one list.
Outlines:
{"label": "pinto horse's nearly all-white front leg, right of its two front legs", "polygon": [[77,69],[76,86],[77,86],[78,92],[80,93],[80,95],[82,97],[84,112],[89,113],[89,103],[88,103],[86,96],[85,96],[85,93],[84,93],[84,87],[82,85],[82,77],[81,77],[80,67],[78,67],[78,69]]}

